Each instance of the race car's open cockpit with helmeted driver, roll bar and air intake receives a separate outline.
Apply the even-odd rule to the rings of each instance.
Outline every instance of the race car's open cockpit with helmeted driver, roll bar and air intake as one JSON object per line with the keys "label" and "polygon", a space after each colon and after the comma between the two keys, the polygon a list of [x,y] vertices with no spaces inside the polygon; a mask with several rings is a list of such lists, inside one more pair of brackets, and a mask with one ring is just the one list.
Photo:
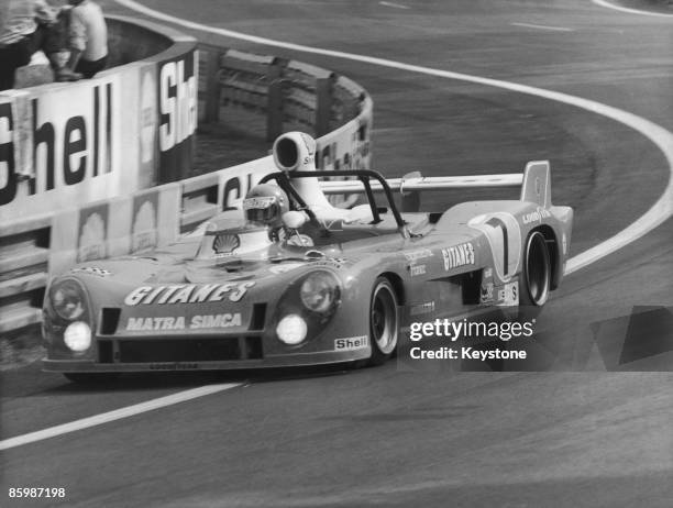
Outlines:
{"label": "race car's open cockpit with helmeted driver, roll bar and air intake", "polygon": [[[382,235],[423,235],[432,229],[428,214],[402,217],[386,179],[365,169],[318,170],[315,141],[288,133],[274,143],[279,172],[264,176],[243,200],[243,211],[224,212],[227,220],[202,231],[197,258],[268,258],[278,252],[309,249],[340,250],[341,245]],[[349,177],[362,184],[366,201],[350,209],[336,208],[321,190],[321,177]],[[375,191],[385,196],[377,203]],[[232,216],[233,213],[238,216]]]}

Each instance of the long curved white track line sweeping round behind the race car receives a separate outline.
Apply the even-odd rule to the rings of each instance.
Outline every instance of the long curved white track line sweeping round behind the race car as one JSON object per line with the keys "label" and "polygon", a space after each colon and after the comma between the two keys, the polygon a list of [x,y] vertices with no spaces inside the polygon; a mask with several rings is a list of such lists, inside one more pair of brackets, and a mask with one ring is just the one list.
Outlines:
{"label": "long curved white track line sweeping round behind the race car", "polygon": [[356,55],[353,53],[343,53],[331,49],[321,49],[318,47],[302,46],[300,44],[293,44],[283,41],[275,41],[272,38],[258,37],[255,35],[247,35],[240,32],[233,32],[225,29],[217,29],[208,26],[201,23],[195,23],[192,21],[185,21],[164,12],[155,11],[145,5],[142,5],[133,0],[115,0],[129,9],[141,12],[151,18],[166,21],[168,23],[178,24],[187,29],[199,30],[202,32],[210,32],[225,37],[238,38],[240,41],[247,41],[256,44],[264,44],[266,46],[283,47],[285,49],[293,49],[302,53],[310,53],[315,55],[330,56],[334,58],[344,58],[354,62],[362,62],[365,64],[378,65],[382,67],[389,67],[400,70],[407,70],[411,73],[420,73],[429,76],[437,76],[448,79],[457,79],[461,81],[475,82],[478,85],[486,85],[490,87],[504,88],[506,90],[517,91],[520,93],[528,93],[544,99],[554,100],[556,102],[563,102],[565,104],[574,106],[576,108],[591,111],[596,114],[602,114],[631,129],[640,132],[642,135],[648,137],[654,143],[663,153],[669,164],[669,183],[654,205],[636,222],[630,224],[624,231],[620,231],[615,236],[599,243],[598,245],[589,249],[588,251],[582,252],[576,256],[569,259],[565,273],[571,274],[585,266],[595,263],[596,261],[611,254],[619,249],[628,245],[629,243],[638,240],[643,234],[652,231],[663,221],[665,221],[673,213],[673,133],[666,131],[664,128],[644,119],[637,117],[636,114],[629,113],[611,106],[603,104],[581,97],[562,93],[559,91],[545,90],[543,88],[530,87],[528,85],[519,85],[510,81],[501,81],[499,79],[483,78],[479,76],[471,76],[467,74],[450,73],[448,70],[433,69],[430,67],[422,67],[419,65],[404,64],[400,62],[394,62],[385,58],[376,58],[373,56]]}

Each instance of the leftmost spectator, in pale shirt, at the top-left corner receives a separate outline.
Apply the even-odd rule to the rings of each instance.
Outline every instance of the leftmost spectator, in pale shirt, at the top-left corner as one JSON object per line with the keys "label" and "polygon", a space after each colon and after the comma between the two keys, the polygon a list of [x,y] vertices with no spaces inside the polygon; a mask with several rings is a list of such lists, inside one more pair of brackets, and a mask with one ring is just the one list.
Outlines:
{"label": "leftmost spectator, in pale shirt, at the top-left corner", "polygon": [[56,80],[71,81],[81,76],[64,68],[54,56],[60,49],[58,10],[45,0],[3,0],[0,3],[0,90],[14,88],[19,67],[44,49]]}

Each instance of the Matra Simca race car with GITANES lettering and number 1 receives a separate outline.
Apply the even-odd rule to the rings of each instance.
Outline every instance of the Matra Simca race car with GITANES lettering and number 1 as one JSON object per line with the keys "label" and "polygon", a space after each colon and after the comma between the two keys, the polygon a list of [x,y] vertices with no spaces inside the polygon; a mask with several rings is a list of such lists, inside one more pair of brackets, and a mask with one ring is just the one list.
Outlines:
{"label": "Matra Simca race car with GITANES lettering and number 1", "polygon": [[[563,277],[573,211],[551,203],[547,162],[523,175],[386,180],[317,170],[315,141],[274,143],[277,173],[243,201],[152,252],[82,263],[44,301],[44,369],[106,373],[380,364],[412,321],[495,306],[540,309]],[[319,177],[350,180],[319,181]],[[520,185],[519,200],[405,212],[426,189]],[[364,205],[327,196],[362,194]],[[382,195],[385,198],[382,198]],[[377,197],[375,196],[378,196]],[[383,205],[382,205],[383,202]]]}

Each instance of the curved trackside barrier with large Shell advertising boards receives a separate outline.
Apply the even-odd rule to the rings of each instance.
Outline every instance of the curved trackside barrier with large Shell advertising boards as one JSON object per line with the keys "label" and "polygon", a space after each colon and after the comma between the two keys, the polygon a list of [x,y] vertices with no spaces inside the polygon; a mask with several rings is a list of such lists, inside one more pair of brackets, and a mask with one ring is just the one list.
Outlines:
{"label": "curved trackside barrier with large Shell advertising boards", "polygon": [[[40,322],[49,276],[175,240],[218,211],[240,208],[274,170],[266,156],[180,179],[191,164],[197,115],[217,124],[229,108],[242,108],[266,122],[269,141],[289,129],[319,136],[319,168],[369,167],[373,103],[352,80],[274,56],[210,45],[197,52],[190,37],[152,23],[115,18],[110,26],[112,59],[125,65],[88,81],[0,95],[0,168],[15,185],[0,206],[0,333]],[[131,62],[124,30],[136,40],[159,32],[141,45],[146,58]],[[82,97],[91,106],[76,114],[70,104]],[[173,183],[143,189],[161,181]]]}

